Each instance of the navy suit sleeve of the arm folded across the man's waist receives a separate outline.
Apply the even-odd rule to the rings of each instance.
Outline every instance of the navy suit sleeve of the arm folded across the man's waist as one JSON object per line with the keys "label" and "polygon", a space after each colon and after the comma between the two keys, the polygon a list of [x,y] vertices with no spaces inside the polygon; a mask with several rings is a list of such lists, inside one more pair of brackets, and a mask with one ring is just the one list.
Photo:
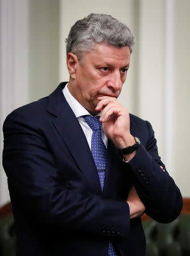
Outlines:
{"label": "navy suit sleeve of the arm folded across the man's waist", "polygon": [[3,125],[3,167],[11,200],[21,202],[21,210],[40,223],[103,236],[127,236],[128,204],[92,193],[82,195],[60,184],[54,156],[35,125],[20,112],[10,114]]}

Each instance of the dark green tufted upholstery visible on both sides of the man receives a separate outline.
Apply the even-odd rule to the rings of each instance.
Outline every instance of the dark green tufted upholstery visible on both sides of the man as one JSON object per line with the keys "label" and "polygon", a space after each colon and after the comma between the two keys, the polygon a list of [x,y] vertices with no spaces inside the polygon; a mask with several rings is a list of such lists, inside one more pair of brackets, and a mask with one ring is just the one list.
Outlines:
{"label": "dark green tufted upholstery visible on both sides of the man", "polygon": [[[147,220],[143,228],[146,256],[190,256],[190,214],[181,214],[170,224]],[[9,214],[0,220],[0,256],[15,256],[15,247],[14,219]]]}

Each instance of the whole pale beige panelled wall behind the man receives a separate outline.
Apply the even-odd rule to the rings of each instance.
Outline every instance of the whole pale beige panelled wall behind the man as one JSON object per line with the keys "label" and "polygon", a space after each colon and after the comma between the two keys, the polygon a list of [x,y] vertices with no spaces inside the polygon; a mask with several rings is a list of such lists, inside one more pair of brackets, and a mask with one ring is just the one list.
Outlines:
{"label": "whole pale beige panelled wall behind the man", "polygon": [[[16,5],[12,1],[0,0],[1,31],[5,32],[0,44],[1,126],[12,109],[46,96],[58,82],[69,79],[65,38],[73,23],[89,13],[111,14],[128,24],[137,39],[119,100],[151,122],[159,154],[183,196],[190,196],[190,1],[14,0]],[[11,27],[19,33],[8,33]],[[9,73],[2,76],[4,67]],[[2,150],[2,134],[0,146]],[[0,204],[9,200],[5,183],[1,167]]]}

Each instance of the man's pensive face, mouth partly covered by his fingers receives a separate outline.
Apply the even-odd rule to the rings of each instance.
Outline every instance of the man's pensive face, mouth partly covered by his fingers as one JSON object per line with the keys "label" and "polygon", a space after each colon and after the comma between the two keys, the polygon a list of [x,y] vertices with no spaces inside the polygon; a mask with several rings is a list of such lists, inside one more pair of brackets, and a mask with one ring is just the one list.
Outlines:
{"label": "man's pensive face, mouth partly covered by his fingers", "polygon": [[69,82],[70,93],[88,112],[96,114],[98,97],[119,96],[129,63],[129,47],[96,44],[91,52],[85,53],[82,64],[75,61],[73,79]]}

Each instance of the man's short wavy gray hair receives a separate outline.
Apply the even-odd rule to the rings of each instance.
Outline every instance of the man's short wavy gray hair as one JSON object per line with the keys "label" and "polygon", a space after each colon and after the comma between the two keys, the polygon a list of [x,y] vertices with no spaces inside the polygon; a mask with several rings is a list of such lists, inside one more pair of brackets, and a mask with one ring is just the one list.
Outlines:
{"label": "man's short wavy gray hair", "polygon": [[135,39],[129,28],[111,15],[90,14],[71,27],[65,42],[66,53],[73,52],[81,61],[83,54],[98,43],[117,48],[128,46],[132,53]]}

